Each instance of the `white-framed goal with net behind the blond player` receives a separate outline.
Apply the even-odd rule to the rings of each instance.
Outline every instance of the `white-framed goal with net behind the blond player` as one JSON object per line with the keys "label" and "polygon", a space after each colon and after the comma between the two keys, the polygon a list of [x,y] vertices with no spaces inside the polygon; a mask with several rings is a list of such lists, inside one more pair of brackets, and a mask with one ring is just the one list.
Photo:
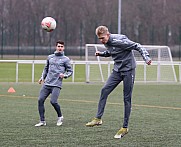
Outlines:
{"label": "white-framed goal with net behind the blond player", "polygon": [[[133,51],[137,61],[136,82],[177,82],[172,55],[168,46],[143,45],[150,54],[152,65],[147,66],[138,51]],[[112,72],[111,57],[95,56],[104,51],[103,44],[86,44],[86,82],[105,82]]]}

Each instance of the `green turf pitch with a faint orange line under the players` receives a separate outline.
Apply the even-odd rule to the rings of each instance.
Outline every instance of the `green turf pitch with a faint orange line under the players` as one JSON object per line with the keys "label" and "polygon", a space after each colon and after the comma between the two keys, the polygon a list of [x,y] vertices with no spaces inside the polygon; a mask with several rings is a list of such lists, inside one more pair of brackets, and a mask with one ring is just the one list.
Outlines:
{"label": "green turf pitch with a faint orange line under the players", "polygon": [[[122,85],[108,98],[103,125],[85,127],[96,114],[102,84],[64,83],[59,102],[64,115],[45,102],[47,126],[39,121],[37,97],[41,85],[0,84],[0,146],[26,147],[179,147],[181,144],[181,85],[135,84],[129,133],[114,139],[123,122]],[[13,87],[15,93],[7,93]],[[25,95],[25,96],[23,96]]]}

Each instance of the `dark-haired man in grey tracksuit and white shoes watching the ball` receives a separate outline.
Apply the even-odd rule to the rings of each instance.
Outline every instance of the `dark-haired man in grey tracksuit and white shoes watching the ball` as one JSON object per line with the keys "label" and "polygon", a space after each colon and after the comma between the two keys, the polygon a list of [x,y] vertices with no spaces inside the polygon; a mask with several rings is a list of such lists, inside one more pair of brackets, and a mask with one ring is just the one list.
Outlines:
{"label": "dark-haired man in grey tracksuit and white shoes watching the ball", "polygon": [[58,104],[58,97],[63,79],[70,77],[72,73],[70,59],[64,55],[64,42],[59,40],[56,42],[54,54],[48,56],[41,78],[38,81],[39,84],[43,82],[43,85],[38,98],[40,122],[35,125],[36,127],[46,126],[44,102],[50,94],[50,103],[58,116],[57,126],[62,125],[63,115]]}

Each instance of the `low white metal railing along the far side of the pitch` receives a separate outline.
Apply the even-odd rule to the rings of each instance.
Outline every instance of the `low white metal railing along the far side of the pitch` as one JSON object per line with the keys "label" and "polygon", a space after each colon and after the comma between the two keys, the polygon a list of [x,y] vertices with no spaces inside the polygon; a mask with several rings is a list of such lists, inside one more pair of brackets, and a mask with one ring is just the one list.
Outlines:
{"label": "low white metal railing along the far side of the pitch", "polygon": [[[7,74],[4,74],[1,76],[1,81],[2,79],[4,82],[15,82],[19,83],[21,79],[19,77],[20,71],[21,75],[24,75],[22,72],[27,72],[30,74],[30,77],[23,82],[31,82],[34,83],[39,77],[35,77],[35,65],[36,64],[43,64],[45,65],[46,60],[0,60],[0,63],[15,63],[16,65],[13,67],[5,67],[5,72],[6,73],[11,73],[10,76],[11,78],[8,79],[8,81],[5,81],[7,78]],[[28,66],[29,69],[22,70],[20,68],[21,64],[29,64]],[[111,68],[113,66],[113,62],[110,61],[71,61],[72,68],[73,68],[73,75],[71,77],[71,81],[69,82],[105,82],[107,77],[110,75]],[[146,66],[146,64],[142,62],[137,62],[139,68],[139,72],[137,72],[136,75],[136,82],[144,82],[144,83],[149,83],[149,82],[158,82],[158,83],[163,83],[163,82],[174,82],[174,83],[181,83],[181,63],[180,62],[153,62],[152,63],[152,69]],[[84,66],[85,71],[84,73],[81,73],[82,75],[85,75],[85,77],[77,77],[80,75],[80,70],[77,70],[77,66]],[[99,70],[98,67],[102,66],[102,71]],[[176,67],[176,68],[167,68],[167,67]],[[141,68],[140,68],[141,67]],[[165,67],[168,70],[165,70]],[[13,69],[15,68],[15,69]],[[104,69],[103,69],[104,68]],[[21,69],[21,70],[20,70]],[[3,69],[2,69],[3,70]],[[162,70],[162,71],[161,71]],[[173,71],[174,70],[174,71]],[[12,71],[15,71],[12,72]],[[15,76],[13,75],[15,74]],[[101,75],[102,73],[102,75]],[[172,73],[174,73],[174,78],[171,77]],[[3,77],[4,76],[4,77]],[[40,75],[38,75],[40,76]],[[15,79],[13,79],[14,77]],[[22,79],[21,79],[22,80]]]}

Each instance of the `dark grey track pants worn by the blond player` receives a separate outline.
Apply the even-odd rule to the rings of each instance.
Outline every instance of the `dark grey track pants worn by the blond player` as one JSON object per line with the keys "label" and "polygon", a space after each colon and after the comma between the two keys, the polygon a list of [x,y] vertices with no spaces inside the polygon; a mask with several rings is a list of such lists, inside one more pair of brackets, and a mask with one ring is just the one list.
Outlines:
{"label": "dark grey track pants worn by the blond player", "polygon": [[113,71],[109,76],[107,82],[101,90],[100,100],[98,104],[98,111],[96,118],[101,118],[104,113],[108,95],[123,81],[123,95],[124,95],[124,122],[123,127],[128,127],[128,121],[131,113],[131,97],[135,79],[135,69],[126,72]]}

